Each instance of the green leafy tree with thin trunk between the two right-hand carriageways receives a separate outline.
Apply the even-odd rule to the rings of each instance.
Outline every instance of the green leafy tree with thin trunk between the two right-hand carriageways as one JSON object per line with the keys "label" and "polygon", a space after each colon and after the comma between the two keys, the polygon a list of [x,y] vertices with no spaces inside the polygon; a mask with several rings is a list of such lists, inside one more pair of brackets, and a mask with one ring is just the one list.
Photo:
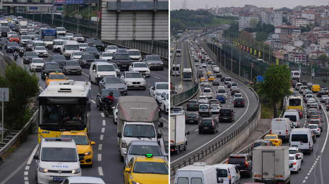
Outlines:
{"label": "green leafy tree with thin trunk between the two right-hand carriageways", "polygon": [[290,88],[290,71],[287,66],[271,65],[265,72],[259,92],[271,101],[274,118],[277,117],[277,103],[283,101],[283,98],[290,93]]}

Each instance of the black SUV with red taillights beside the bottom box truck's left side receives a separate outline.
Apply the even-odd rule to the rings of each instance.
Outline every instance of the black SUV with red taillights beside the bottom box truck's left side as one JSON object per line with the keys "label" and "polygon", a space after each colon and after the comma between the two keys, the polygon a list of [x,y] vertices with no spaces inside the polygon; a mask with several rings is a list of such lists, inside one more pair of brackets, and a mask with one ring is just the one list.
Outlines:
{"label": "black SUV with red taillights beside the bottom box truck's left side", "polygon": [[252,176],[252,156],[250,153],[232,153],[227,163],[235,165],[241,175],[248,178]]}

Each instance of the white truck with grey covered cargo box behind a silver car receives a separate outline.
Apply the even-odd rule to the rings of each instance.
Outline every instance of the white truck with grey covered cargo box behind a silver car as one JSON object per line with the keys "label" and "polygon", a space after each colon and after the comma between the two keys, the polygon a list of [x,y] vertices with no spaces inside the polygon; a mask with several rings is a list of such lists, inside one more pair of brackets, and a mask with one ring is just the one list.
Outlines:
{"label": "white truck with grey covered cargo box behind a silver car", "polygon": [[132,140],[158,141],[162,138],[159,127],[159,106],[153,97],[123,96],[118,99],[117,141],[120,159]]}

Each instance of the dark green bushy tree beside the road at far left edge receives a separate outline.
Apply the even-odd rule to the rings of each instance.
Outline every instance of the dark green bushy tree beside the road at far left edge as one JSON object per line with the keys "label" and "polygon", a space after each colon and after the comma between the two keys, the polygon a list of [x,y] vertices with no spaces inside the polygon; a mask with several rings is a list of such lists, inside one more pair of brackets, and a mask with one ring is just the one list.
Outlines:
{"label": "dark green bushy tree beside the road at far left edge", "polygon": [[21,130],[24,116],[39,91],[39,77],[14,64],[7,66],[4,76],[0,75],[0,87],[9,88],[9,101],[4,105],[5,128]]}

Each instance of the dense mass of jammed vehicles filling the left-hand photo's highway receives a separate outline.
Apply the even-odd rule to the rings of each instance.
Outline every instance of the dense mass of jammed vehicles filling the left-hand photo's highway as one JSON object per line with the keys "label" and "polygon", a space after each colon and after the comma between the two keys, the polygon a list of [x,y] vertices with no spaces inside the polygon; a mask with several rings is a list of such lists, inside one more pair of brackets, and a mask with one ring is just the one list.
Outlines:
{"label": "dense mass of jammed vehicles filling the left-hand photo's highway", "polygon": [[[168,135],[161,129],[163,120],[168,123],[169,84],[159,55],[106,45],[23,17],[0,18],[3,54],[40,77],[39,144],[32,153],[35,168],[29,170],[35,181],[30,183],[90,179],[83,176],[109,183],[105,172],[116,167],[121,174],[114,173],[115,183],[168,184]],[[96,125],[99,121],[103,124]],[[117,133],[111,143],[100,144],[105,128]],[[122,166],[96,161],[106,144],[118,145]],[[118,155],[117,150],[104,151]]]}

